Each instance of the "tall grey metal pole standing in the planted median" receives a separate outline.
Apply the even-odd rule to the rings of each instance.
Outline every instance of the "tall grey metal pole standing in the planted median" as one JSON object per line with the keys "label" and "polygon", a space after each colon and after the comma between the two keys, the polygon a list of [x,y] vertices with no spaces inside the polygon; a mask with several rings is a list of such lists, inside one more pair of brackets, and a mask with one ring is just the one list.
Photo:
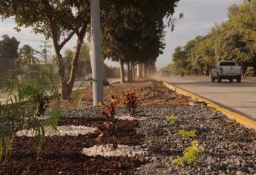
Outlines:
{"label": "tall grey metal pole standing in the planted median", "polygon": [[91,47],[93,72],[93,106],[103,102],[101,31],[99,0],[91,0]]}

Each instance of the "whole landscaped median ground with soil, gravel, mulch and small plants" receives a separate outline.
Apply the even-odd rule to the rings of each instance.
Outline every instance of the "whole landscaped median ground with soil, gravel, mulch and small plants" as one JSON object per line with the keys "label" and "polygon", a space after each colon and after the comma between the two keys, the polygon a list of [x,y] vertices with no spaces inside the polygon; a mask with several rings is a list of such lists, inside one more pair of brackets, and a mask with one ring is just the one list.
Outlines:
{"label": "whole landscaped median ground with soil, gravel, mulch and small plants", "polygon": [[101,108],[89,106],[91,87],[62,102],[59,132],[67,135],[46,136],[40,155],[32,136],[15,136],[0,174],[256,174],[255,131],[223,113],[188,105],[161,82],[104,91]]}

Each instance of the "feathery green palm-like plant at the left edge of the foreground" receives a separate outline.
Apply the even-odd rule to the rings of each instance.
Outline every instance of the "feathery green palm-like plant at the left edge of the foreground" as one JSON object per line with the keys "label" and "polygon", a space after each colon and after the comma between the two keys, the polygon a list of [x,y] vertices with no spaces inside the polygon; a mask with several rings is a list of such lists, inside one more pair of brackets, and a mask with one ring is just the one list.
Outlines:
{"label": "feathery green palm-like plant at the left edge of the foreground", "polygon": [[[40,70],[40,67],[34,67]],[[0,92],[8,95],[7,102],[0,104],[0,161],[10,156],[16,131],[33,129],[38,139],[38,153],[45,142],[46,132],[56,132],[62,110],[59,105],[59,88],[53,71],[40,70],[45,76],[26,76],[22,82],[16,79],[0,79]],[[45,111],[45,99],[52,106],[46,119],[39,119]]]}

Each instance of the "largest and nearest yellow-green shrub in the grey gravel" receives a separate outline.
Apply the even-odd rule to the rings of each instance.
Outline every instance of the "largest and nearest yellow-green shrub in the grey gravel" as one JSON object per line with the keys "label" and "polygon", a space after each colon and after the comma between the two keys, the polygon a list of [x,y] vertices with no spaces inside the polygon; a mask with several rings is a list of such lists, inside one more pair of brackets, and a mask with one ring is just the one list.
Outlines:
{"label": "largest and nearest yellow-green shrub in the grey gravel", "polygon": [[197,140],[194,140],[191,142],[191,146],[183,151],[183,156],[174,159],[174,163],[189,166],[197,165],[198,156],[200,153],[202,153],[202,150],[198,147]]}

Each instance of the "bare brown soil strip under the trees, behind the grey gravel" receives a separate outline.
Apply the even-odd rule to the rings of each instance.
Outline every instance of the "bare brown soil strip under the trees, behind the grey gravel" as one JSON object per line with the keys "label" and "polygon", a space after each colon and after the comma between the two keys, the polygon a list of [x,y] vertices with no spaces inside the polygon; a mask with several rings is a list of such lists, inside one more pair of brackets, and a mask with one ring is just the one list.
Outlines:
{"label": "bare brown soil strip under the trees, behind the grey gravel", "polygon": [[[111,96],[122,98],[124,90],[137,89],[142,99],[142,106],[169,106],[169,105],[188,105],[189,97],[175,93],[165,87],[161,82],[144,80],[134,83],[114,83],[104,87],[105,102],[110,102]],[[78,90],[82,99],[83,106],[93,105],[92,87]],[[76,100],[62,102],[63,106],[76,107]]]}

